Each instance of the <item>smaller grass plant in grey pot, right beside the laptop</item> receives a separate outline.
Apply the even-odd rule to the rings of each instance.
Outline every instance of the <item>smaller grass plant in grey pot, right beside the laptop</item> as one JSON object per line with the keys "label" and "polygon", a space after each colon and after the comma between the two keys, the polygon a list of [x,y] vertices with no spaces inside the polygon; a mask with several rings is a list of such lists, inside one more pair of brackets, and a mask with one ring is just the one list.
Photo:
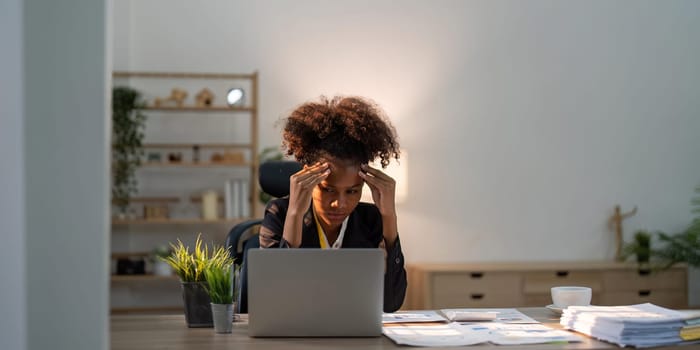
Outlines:
{"label": "smaller grass plant in grey pot, right beside the laptop", "polygon": [[233,324],[233,259],[229,260],[222,267],[211,267],[204,272],[216,333],[231,333]]}

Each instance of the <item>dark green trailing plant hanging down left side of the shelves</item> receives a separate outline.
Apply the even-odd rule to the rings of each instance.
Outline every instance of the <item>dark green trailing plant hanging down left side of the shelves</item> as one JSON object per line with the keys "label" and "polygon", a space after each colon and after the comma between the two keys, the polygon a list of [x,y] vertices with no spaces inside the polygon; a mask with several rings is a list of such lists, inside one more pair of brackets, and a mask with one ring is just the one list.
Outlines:
{"label": "dark green trailing plant hanging down left side of the shelves", "polygon": [[112,89],[112,199],[125,216],[132,194],[137,192],[136,168],[143,157],[141,93],[128,87]]}

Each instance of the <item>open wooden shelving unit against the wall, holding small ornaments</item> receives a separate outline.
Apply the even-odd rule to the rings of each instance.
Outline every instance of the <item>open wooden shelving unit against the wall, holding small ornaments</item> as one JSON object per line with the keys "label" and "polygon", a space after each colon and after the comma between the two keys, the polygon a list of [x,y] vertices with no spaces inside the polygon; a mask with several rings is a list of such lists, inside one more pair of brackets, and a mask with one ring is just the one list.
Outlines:
{"label": "open wooden shelving unit against the wall, holding small ornaments", "polygon": [[[155,246],[167,246],[177,239],[192,246],[200,232],[205,242],[223,244],[231,227],[258,216],[258,74],[118,71],[112,76],[113,86],[128,86],[141,93],[147,124],[142,145],[145,157],[137,170],[139,193],[131,198],[128,216],[112,219],[113,263],[143,259],[146,274],[117,275],[113,271],[111,311],[181,311],[178,278],[151,274],[148,257]],[[228,106],[225,94],[234,87],[243,88],[245,101]],[[184,103],[168,100],[175,88],[187,92]],[[205,107],[195,105],[195,95],[203,89],[215,95]],[[158,106],[157,99],[161,100]],[[170,158],[173,154],[176,159]],[[219,177],[224,180],[217,180]],[[244,203],[248,215],[227,217],[220,211],[217,219],[202,219],[204,190],[217,192],[218,207],[225,207],[223,187],[230,179],[247,181]],[[146,217],[147,206],[164,208],[163,217]]]}

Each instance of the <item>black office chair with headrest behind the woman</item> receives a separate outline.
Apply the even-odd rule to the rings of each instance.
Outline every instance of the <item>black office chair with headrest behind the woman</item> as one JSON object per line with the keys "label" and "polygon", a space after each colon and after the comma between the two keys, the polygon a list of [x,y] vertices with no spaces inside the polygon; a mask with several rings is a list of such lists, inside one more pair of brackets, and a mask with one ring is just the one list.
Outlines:
{"label": "black office chair with headrest behind the woman", "polygon": [[[263,192],[276,197],[289,195],[289,177],[301,170],[300,163],[288,160],[273,160],[260,164],[258,182]],[[236,300],[237,313],[248,312],[247,250],[260,247],[259,226],[262,219],[250,219],[231,228],[226,236],[226,249],[240,267]],[[256,230],[257,228],[257,230]]]}

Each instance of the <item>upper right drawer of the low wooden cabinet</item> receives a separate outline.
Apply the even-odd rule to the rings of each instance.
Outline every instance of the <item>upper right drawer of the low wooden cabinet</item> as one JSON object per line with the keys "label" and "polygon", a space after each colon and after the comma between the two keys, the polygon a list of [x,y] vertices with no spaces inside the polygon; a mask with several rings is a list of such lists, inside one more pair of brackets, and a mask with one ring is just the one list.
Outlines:
{"label": "upper right drawer of the low wooden cabinet", "polygon": [[642,275],[637,270],[605,272],[603,281],[606,291],[646,290],[685,290],[687,273],[685,269],[673,269]]}

